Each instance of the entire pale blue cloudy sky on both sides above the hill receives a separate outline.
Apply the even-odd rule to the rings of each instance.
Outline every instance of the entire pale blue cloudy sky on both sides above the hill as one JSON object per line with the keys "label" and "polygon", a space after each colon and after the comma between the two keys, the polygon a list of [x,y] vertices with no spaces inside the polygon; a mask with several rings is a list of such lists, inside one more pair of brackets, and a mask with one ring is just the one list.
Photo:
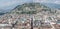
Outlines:
{"label": "entire pale blue cloudy sky on both sides above the hill", "polygon": [[[0,9],[29,1],[32,0],[0,0]],[[36,2],[60,4],[60,0],[36,0]]]}

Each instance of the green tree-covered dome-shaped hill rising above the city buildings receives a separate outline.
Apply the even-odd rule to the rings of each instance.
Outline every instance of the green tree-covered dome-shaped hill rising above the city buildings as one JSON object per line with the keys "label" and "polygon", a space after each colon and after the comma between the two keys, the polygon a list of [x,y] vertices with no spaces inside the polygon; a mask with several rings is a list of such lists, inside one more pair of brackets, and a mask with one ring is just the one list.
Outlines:
{"label": "green tree-covered dome-shaped hill rising above the city buildings", "polygon": [[35,14],[37,12],[40,12],[42,10],[46,11],[50,8],[40,4],[40,3],[24,3],[22,5],[16,6],[10,13],[14,14]]}

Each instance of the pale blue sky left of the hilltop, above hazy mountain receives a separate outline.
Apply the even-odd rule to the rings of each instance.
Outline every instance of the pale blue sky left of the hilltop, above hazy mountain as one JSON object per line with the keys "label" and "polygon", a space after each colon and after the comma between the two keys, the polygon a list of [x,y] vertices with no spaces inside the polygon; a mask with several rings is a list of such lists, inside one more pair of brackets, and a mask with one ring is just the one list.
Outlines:
{"label": "pale blue sky left of the hilltop, above hazy mountain", "polygon": [[0,9],[18,5],[18,3],[28,2],[29,0],[0,0]]}

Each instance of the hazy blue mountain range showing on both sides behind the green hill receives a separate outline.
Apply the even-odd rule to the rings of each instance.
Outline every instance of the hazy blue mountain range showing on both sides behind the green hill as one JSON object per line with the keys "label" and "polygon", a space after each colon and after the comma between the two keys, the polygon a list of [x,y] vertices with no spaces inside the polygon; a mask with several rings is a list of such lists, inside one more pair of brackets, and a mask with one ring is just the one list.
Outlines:
{"label": "hazy blue mountain range showing on both sides behind the green hill", "polygon": [[[23,3],[18,3],[18,4],[14,4],[14,5],[5,7],[2,10],[0,10],[0,12],[3,12],[3,13],[9,12],[10,10],[14,9],[17,5],[21,5],[21,4],[23,4]],[[42,4],[49,8],[60,9],[60,4],[54,4],[54,3],[42,3]]]}

